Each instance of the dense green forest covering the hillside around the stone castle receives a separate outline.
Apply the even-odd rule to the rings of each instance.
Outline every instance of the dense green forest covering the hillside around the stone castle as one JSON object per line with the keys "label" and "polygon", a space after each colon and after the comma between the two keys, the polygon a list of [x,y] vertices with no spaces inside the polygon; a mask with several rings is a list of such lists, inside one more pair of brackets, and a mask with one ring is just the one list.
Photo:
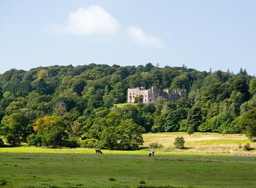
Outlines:
{"label": "dense green forest covering the hillside around the stone castle", "polygon": [[[125,105],[127,88],[188,92],[176,103]],[[152,63],[48,66],[0,75],[0,146],[137,149],[145,132],[256,136],[256,78]],[[3,141],[4,140],[4,141]]]}

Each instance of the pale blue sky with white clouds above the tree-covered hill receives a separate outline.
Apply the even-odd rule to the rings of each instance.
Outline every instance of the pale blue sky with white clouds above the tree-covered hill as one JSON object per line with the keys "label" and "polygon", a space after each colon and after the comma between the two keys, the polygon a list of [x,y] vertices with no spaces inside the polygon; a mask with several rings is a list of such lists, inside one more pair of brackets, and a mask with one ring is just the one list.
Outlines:
{"label": "pale blue sky with white clouds above the tree-covered hill", "polygon": [[0,73],[149,62],[255,75],[256,1],[0,0]]}

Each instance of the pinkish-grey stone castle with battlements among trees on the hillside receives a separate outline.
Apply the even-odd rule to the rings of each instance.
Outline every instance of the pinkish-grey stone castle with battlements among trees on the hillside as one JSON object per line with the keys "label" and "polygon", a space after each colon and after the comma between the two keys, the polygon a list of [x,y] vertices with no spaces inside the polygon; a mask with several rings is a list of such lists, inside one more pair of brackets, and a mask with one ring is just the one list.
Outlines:
{"label": "pinkish-grey stone castle with battlements among trees on the hillside", "polygon": [[186,92],[172,92],[169,89],[160,90],[154,86],[151,89],[145,89],[143,86],[139,88],[128,88],[127,103],[134,103],[135,99],[139,99],[140,103],[153,103],[156,99],[162,96],[163,98],[176,102],[179,98],[186,98]]}

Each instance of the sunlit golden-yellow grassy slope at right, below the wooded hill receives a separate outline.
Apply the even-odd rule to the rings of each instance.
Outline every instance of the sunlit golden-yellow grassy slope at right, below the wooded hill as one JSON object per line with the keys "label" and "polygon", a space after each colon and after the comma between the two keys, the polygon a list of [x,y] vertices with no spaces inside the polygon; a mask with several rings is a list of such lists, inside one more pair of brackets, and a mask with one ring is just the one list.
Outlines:
{"label": "sunlit golden-yellow grassy slope at right, below the wooded hill", "polygon": [[189,136],[184,132],[172,132],[172,133],[147,133],[143,135],[145,141],[144,146],[149,146],[152,142],[162,143],[163,146],[169,147],[163,150],[176,151],[173,149],[173,142],[175,137],[183,136],[185,139],[185,146],[189,147],[185,152],[196,153],[231,153],[234,155],[251,155],[256,156],[256,150],[251,152],[244,152],[239,145],[244,146],[246,143],[250,143],[252,147],[256,147],[255,140],[249,140],[247,137],[241,134],[227,134],[222,135],[220,133],[199,133],[196,132]]}

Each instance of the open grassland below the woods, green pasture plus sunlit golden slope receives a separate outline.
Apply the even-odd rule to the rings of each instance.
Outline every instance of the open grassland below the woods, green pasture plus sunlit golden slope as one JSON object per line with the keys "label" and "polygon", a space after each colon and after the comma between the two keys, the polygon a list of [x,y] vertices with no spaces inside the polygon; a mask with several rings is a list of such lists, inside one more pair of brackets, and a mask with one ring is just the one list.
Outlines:
{"label": "open grassland below the woods, green pasture plus sunlit golden slope", "polygon": [[[184,136],[189,149],[172,150],[176,136]],[[102,150],[103,155],[96,155],[94,149],[83,148],[0,148],[0,187],[256,187],[255,153],[237,156],[221,149],[255,144],[242,135],[143,137],[145,146],[159,142],[165,148],[156,150],[154,157],[148,157],[148,149]]]}

